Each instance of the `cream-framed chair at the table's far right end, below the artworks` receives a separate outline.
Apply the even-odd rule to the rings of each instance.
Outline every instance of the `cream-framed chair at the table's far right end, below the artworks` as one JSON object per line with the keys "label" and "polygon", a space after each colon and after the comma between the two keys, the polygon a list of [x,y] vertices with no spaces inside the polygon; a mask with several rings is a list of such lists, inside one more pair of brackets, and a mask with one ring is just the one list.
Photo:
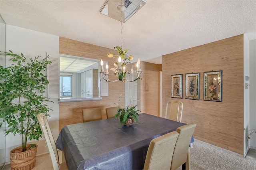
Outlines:
{"label": "cream-framed chair at the table's far right end, below the artworks", "polygon": [[181,122],[183,103],[170,100],[166,105],[165,119]]}

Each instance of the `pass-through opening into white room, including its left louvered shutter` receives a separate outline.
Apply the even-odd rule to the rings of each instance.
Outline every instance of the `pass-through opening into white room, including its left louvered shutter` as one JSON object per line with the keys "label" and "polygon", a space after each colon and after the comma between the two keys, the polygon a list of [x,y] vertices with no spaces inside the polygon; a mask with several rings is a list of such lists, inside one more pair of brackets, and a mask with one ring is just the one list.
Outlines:
{"label": "pass-through opening into white room, including its left louvered shutter", "polygon": [[[108,88],[104,88],[104,83],[100,81],[99,60],[52,53],[49,56],[52,64],[47,68],[50,82],[47,86],[48,98],[59,98],[60,102],[84,101],[90,100],[90,98],[100,100],[101,89],[108,91]],[[91,97],[88,97],[88,94],[84,96],[86,90],[86,76],[84,73],[88,70],[93,70]],[[105,94],[102,96],[105,96]]]}

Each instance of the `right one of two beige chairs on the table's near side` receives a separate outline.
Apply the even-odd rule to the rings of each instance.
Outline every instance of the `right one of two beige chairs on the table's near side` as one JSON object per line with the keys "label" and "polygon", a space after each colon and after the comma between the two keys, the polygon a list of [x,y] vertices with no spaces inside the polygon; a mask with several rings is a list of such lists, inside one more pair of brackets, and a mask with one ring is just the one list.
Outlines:
{"label": "right one of two beige chairs on the table's near side", "polygon": [[190,170],[190,140],[196,128],[195,123],[183,125],[176,131],[179,133],[172,156],[171,170],[182,166],[182,170]]}

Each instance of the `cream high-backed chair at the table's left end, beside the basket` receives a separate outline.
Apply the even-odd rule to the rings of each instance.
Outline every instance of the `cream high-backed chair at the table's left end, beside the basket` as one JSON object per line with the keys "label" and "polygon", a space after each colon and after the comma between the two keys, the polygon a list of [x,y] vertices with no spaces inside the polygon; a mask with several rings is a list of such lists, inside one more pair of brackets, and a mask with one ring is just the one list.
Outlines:
{"label": "cream high-backed chair at the table's left end, beside the basket", "polygon": [[[60,164],[58,150],[56,148],[54,138],[52,136],[52,131],[50,129],[48,120],[44,113],[40,113],[37,115],[37,119],[42,130],[42,134],[44,136],[44,140],[46,142],[46,146],[48,152],[50,154],[50,158],[52,160],[52,166],[54,170],[68,170],[68,166],[66,162]],[[63,155],[62,155],[63,156]]]}

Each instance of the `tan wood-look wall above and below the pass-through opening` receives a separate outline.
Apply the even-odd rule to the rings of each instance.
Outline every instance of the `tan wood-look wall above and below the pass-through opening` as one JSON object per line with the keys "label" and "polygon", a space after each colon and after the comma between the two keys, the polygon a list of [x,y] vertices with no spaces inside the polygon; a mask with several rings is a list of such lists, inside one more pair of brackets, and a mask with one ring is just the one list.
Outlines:
{"label": "tan wood-look wall above and below the pass-through opening", "polygon": [[[67,55],[74,55],[78,57],[86,57],[92,59],[103,59],[109,63],[113,63],[112,58],[108,58],[108,53],[116,54],[116,50],[92,45],[89,43],[78,42],[68,38],[60,37],[60,53]],[[124,83],[116,82],[108,84],[108,97],[102,97],[97,101],[76,101],[76,102],[62,102],[60,103],[60,122],[59,130],[65,125],[82,123],[82,110],[100,107],[102,111],[102,119],[106,119],[106,107],[116,106],[114,103],[118,102],[120,94],[122,96],[122,103],[124,103]]]}

